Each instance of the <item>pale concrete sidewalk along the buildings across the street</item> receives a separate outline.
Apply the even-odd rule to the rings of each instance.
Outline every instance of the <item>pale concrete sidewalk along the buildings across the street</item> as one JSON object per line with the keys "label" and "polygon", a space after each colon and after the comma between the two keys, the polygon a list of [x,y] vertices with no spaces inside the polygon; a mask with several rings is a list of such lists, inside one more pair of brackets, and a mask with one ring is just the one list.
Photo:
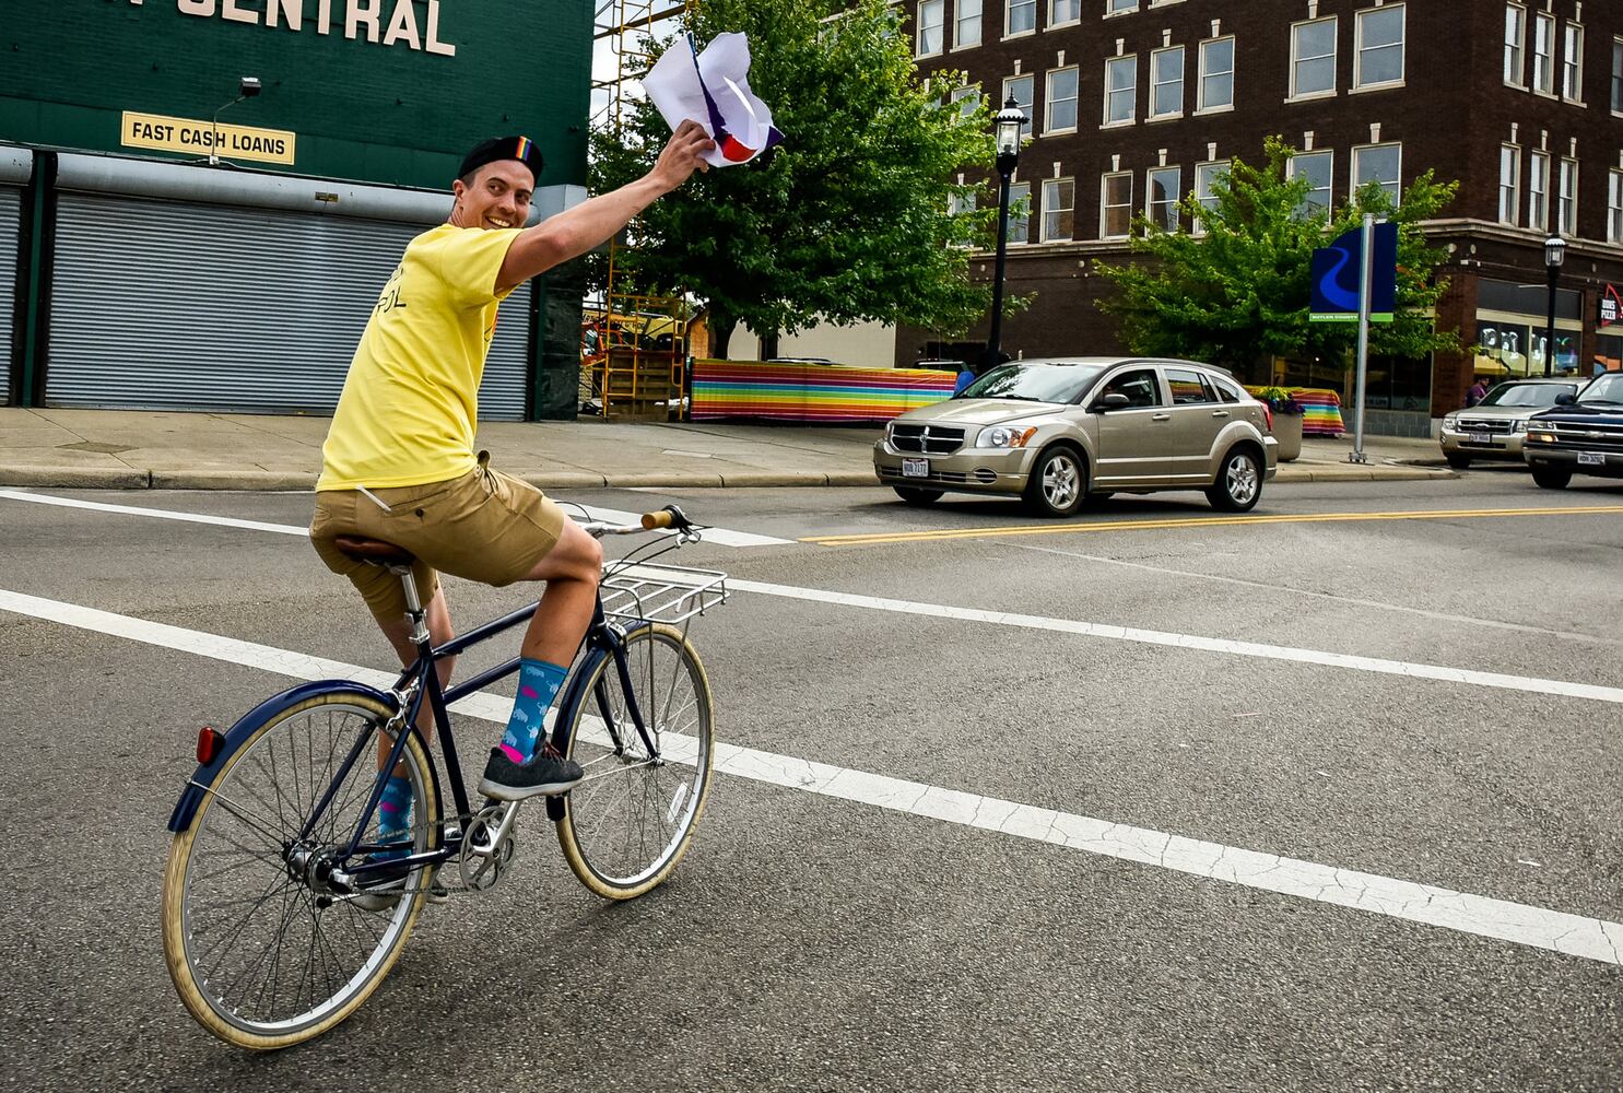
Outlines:
{"label": "pale concrete sidewalk along the buildings across the street", "polygon": [[[328,417],[0,408],[0,486],[305,490]],[[489,422],[492,466],[542,489],[878,486],[878,429],[734,424]],[[1435,440],[1310,438],[1277,482],[1456,477]],[[1435,463],[1435,466],[1425,466]]]}

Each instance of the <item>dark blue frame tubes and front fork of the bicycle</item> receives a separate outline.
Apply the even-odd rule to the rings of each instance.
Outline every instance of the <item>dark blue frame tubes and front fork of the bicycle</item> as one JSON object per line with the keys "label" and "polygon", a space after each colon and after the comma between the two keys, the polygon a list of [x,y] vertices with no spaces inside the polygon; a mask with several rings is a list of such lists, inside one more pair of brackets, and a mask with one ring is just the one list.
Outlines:
{"label": "dark blue frame tubes and front fork of the bicycle", "polygon": [[[407,583],[409,583],[409,578],[407,578]],[[414,596],[411,596],[411,601],[415,606],[415,598]],[[505,630],[511,630],[513,627],[519,625],[521,622],[527,622],[536,614],[536,609],[539,606],[540,606],[540,603],[536,601],[536,603],[532,603],[532,604],[529,604],[526,607],[519,607],[518,611],[513,611],[513,612],[510,612],[506,616],[502,616],[500,619],[495,619],[493,622],[487,622],[487,624],[484,624],[480,627],[476,627],[474,630],[469,630],[467,633],[464,633],[464,635],[461,635],[458,638],[453,638],[453,640],[446,642],[440,648],[433,648],[433,645],[428,640],[425,627],[419,627],[417,629],[417,633],[422,635],[420,640],[417,640],[417,659],[412,661],[399,674],[399,679],[396,679],[394,687],[391,690],[391,693],[396,697],[396,700],[399,700],[401,697],[406,697],[404,711],[401,711],[399,708],[396,708],[396,718],[394,719],[403,728],[411,726],[411,731],[415,731],[417,715],[422,711],[422,703],[424,703],[424,700],[428,702],[428,708],[433,713],[435,736],[440,739],[440,750],[441,750],[443,762],[445,762],[445,773],[446,773],[446,776],[450,778],[450,783],[451,783],[451,797],[453,797],[453,802],[456,806],[456,817],[461,820],[461,823],[458,823],[458,828],[456,828],[454,835],[445,832],[445,830],[441,830],[438,833],[430,833],[430,838],[440,836],[440,838],[445,840],[445,843],[441,846],[435,848],[435,849],[428,849],[428,851],[420,853],[420,854],[407,854],[404,858],[391,858],[388,861],[377,861],[377,862],[360,861],[360,862],[355,862],[355,864],[352,864],[352,866],[347,867],[347,874],[351,877],[365,877],[365,874],[375,872],[375,871],[381,871],[381,869],[398,869],[401,862],[406,862],[406,864],[411,864],[411,866],[415,866],[415,864],[440,864],[440,862],[445,862],[446,859],[450,859],[451,854],[454,854],[459,849],[463,825],[466,825],[467,819],[474,812],[472,812],[472,807],[471,807],[469,799],[467,799],[467,789],[464,788],[464,783],[463,783],[463,765],[461,765],[461,760],[459,760],[458,752],[456,752],[456,739],[451,734],[451,718],[450,718],[450,713],[448,713],[448,706],[453,702],[458,702],[459,698],[464,698],[466,695],[471,695],[471,693],[477,692],[479,689],[482,689],[482,687],[485,687],[489,684],[493,684],[498,679],[505,679],[506,676],[511,676],[513,672],[516,672],[518,667],[519,667],[519,658],[514,656],[514,658],[511,658],[508,661],[503,661],[502,664],[497,664],[495,667],[485,669],[484,672],[479,672],[472,679],[467,679],[467,680],[464,680],[464,682],[461,682],[461,684],[458,684],[458,685],[454,685],[454,687],[451,687],[448,690],[440,687],[440,672],[435,671],[435,666],[441,659],[445,659],[448,656],[456,656],[458,653],[461,653],[464,650],[469,650],[469,648],[472,648],[476,645],[480,645],[482,642],[485,642],[487,638],[495,637],[497,633],[502,633]],[[422,616],[420,607],[415,612],[412,612],[412,614],[414,614],[414,622],[420,620],[420,616]],[[589,663],[592,653],[597,651],[597,650],[605,650],[607,655],[613,656],[613,659],[615,659],[615,671],[620,676],[622,692],[626,697],[626,713],[630,715],[631,724],[636,728],[636,732],[641,737],[644,747],[648,747],[648,754],[657,760],[659,749],[654,745],[654,741],[651,739],[651,736],[648,732],[648,726],[646,726],[646,723],[643,719],[643,711],[641,711],[641,708],[638,705],[636,689],[631,684],[631,669],[630,669],[630,664],[626,663],[626,658],[625,658],[625,638],[622,637],[620,629],[615,627],[615,625],[612,625],[609,622],[607,616],[604,614],[602,594],[601,593],[599,593],[597,601],[596,601],[596,604],[592,607],[592,622],[586,629],[586,635],[584,635],[581,645],[586,650],[586,661],[581,661],[583,664]],[[586,677],[586,672],[583,672],[583,671],[573,672],[571,679],[568,679],[565,682],[565,692],[563,692],[562,700],[558,702],[558,716],[557,716],[557,719],[553,723],[552,744],[560,752],[568,752],[568,744],[570,744],[568,736],[566,736],[568,734],[568,726],[575,721],[573,713],[575,713],[576,706],[581,702],[584,702],[584,695],[578,693],[578,690],[579,690],[579,680],[584,679],[584,677]],[[609,700],[607,700],[607,695],[602,693],[601,685],[597,689],[596,700],[597,700],[597,710],[602,715],[605,724],[609,726],[609,736],[613,741],[615,750],[620,750],[622,749],[620,726],[615,724],[615,721],[613,721],[613,718],[612,718],[612,715],[609,711]],[[378,849],[388,849],[385,846],[367,845],[367,843],[362,841],[362,836],[365,835],[367,827],[372,823],[372,817],[377,814],[378,802],[383,799],[383,788],[385,788],[385,784],[388,781],[385,771],[394,770],[399,765],[401,757],[406,752],[406,736],[407,734],[404,731],[401,731],[401,732],[396,734],[394,745],[390,749],[390,755],[385,760],[385,763],[378,768],[378,778],[377,778],[377,783],[372,788],[372,796],[367,799],[367,806],[365,806],[365,809],[360,814],[360,820],[355,825],[355,832],[349,838],[349,843],[344,846],[342,853],[339,854],[339,861],[354,858],[357,853],[364,853],[364,851],[365,853],[373,853],[373,851],[378,851]],[[355,765],[357,760],[360,760],[362,755],[365,755],[368,752],[367,745],[372,742],[372,739],[373,739],[373,732],[372,731],[364,732],[360,736],[360,739],[355,742],[355,745],[351,749],[349,755],[344,757],[344,762],[339,767],[339,770],[334,773],[331,784],[328,786],[328,789],[323,794],[321,801],[312,810],[310,819],[305,822],[304,830],[299,833],[300,840],[308,840],[310,838],[312,832],[315,830],[315,825],[316,825],[318,819],[326,810],[326,807],[331,804],[333,796],[338,793],[338,788],[344,783],[344,778],[349,775],[351,768]],[[438,783],[438,775],[433,771],[433,760],[432,758],[430,758],[428,767],[430,767],[430,771],[428,771],[430,778],[435,778],[435,781]],[[438,791],[438,784],[435,786],[435,789]],[[438,796],[438,793],[437,793],[437,796]],[[558,820],[563,815],[563,802],[562,802],[560,797],[549,797],[547,799],[547,815],[552,820]]]}

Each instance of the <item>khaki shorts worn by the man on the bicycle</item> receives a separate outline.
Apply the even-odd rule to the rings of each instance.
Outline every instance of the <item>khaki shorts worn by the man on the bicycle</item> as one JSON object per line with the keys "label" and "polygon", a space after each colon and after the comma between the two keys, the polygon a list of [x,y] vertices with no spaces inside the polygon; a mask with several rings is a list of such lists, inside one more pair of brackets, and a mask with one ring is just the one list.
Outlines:
{"label": "khaki shorts worn by the man on the bicycle", "polygon": [[558,544],[566,516],[534,486],[492,471],[489,460],[480,451],[477,468],[443,482],[370,490],[388,512],[360,490],[321,490],[310,521],[315,552],[360,590],[380,622],[406,616],[406,590],[381,565],[339,551],[333,539],[341,534],[415,554],[412,577],[425,606],[440,588],[440,572],[498,588],[524,578]]}

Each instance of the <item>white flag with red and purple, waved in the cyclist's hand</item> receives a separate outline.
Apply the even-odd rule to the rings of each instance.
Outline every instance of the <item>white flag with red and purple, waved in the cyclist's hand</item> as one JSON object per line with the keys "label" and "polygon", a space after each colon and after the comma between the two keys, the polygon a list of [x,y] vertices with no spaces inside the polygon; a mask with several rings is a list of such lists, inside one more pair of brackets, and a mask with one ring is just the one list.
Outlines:
{"label": "white flag with red and purple, waved in the cyclist's hand", "polygon": [[750,162],[779,143],[773,112],[750,91],[750,42],[717,34],[695,55],[691,36],[677,39],[654,63],[643,88],[672,130],[698,122],[716,141],[704,161],[717,167]]}

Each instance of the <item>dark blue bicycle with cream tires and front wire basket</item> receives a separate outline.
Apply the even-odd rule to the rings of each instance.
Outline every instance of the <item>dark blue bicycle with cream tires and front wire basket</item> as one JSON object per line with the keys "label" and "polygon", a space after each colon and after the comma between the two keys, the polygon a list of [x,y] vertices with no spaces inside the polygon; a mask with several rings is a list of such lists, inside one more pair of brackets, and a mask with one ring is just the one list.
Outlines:
{"label": "dark blue bicycle with cream tires and front wire basket", "polygon": [[[592,892],[630,900],[670,875],[704,810],[716,737],[687,632],[725,603],[727,578],[649,560],[700,539],[674,505],[639,525],[584,528],[597,538],[674,531],[604,567],[550,729],[586,770],[566,796],[544,797],[563,856]],[[347,549],[401,577],[415,663],[390,690],[302,684],[229,732],[203,729],[196,773],[169,820],[169,973],[192,1015],[240,1048],[286,1048],[342,1022],[388,974],[430,895],[485,890],[513,861],[521,802],[469,801],[446,706],[513,674],[518,658],[448,690],[435,663],[527,622],[536,604],[433,648],[411,555],[365,539]],[[415,728],[424,703],[443,780]],[[406,840],[381,841],[378,801],[393,770],[411,781],[411,823]]]}

